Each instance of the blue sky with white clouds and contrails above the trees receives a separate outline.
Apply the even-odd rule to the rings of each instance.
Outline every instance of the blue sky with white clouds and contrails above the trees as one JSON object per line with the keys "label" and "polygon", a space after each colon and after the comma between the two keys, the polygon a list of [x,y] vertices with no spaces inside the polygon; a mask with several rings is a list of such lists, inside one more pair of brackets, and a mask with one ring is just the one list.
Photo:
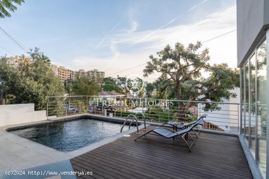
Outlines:
{"label": "blue sky with white clouds and contrails above the trees", "polygon": [[[0,26],[24,46],[40,48],[52,64],[128,77],[142,76],[141,64],[167,44],[187,46],[235,30],[236,0],[25,0],[11,16]],[[3,33],[0,46],[25,54]],[[211,64],[237,67],[236,31],[204,42],[204,48]],[[12,56],[0,48],[4,55]]]}

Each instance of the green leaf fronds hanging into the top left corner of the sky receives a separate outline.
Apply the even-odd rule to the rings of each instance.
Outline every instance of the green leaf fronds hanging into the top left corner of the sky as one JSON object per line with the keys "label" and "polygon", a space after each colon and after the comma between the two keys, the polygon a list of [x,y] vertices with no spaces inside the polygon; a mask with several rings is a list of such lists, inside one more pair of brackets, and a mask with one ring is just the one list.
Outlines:
{"label": "green leaf fronds hanging into the top left corner of the sky", "polygon": [[10,18],[11,15],[7,9],[11,12],[14,12],[17,10],[17,7],[13,3],[21,5],[22,2],[24,2],[24,0],[0,0],[0,18]]}

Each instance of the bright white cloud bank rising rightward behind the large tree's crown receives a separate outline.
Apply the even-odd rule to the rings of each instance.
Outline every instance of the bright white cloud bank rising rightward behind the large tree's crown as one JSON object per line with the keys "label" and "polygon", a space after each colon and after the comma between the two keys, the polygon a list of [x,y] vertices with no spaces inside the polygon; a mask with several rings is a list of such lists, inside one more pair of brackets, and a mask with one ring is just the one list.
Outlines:
{"label": "bright white cloud bank rising rightward behind the large tree's crown", "polygon": [[[100,52],[101,54],[94,53],[89,57],[77,58],[72,65],[80,66],[80,68],[85,68],[86,70],[90,70],[94,66],[98,70],[105,71],[106,75],[112,74],[145,63],[149,60],[150,54],[155,55],[166,44],[170,44],[172,47],[176,42],[188,45],[189,43],[195,43],[197,40],[206,41],[212,39],[234,29],[236,29],[236,5],[209,14],[205,16],[204,20],[193,21],[188,24],[176,24],[172,27],[159,29],[157,32],[155,32],[156,30],[146,30],[113,33],[109,36],[109,39],[103,41],[103,43],[106,42],[107,44],[100,45],[99,48],[102,47],[103,50],[102,53]],[[148,34],[152,35],[141,41],[139,45],[130,47],[134,42]],[[211,64],[226,62],[229,66],[236,67],[235,32],[205,42],[203,43],[203,48],[209,48]],[[107,51],[111,53],[104,55],[104,52]],[[144,66],[140,66],[112,76],[129,76],[132,74],[141,76],[143,69]],[[148,80],[152,81],[157,79],[158,76],[159,74],[154,74]]]}

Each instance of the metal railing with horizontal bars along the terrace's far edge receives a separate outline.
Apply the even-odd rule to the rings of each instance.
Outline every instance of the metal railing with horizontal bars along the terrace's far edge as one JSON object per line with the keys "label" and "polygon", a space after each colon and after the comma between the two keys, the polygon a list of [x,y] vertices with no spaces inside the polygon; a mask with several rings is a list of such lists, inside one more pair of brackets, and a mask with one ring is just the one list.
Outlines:
{"label": "metal railing with horizontal bars along the terrace's far edge", "polygon": [[158,123],[194,120],[207,114],[204,129],[238,133],[240,128],[239,103],[98,96],[48,97],[47,118],[83,113],[125,119],[132,114],[138,120]]}

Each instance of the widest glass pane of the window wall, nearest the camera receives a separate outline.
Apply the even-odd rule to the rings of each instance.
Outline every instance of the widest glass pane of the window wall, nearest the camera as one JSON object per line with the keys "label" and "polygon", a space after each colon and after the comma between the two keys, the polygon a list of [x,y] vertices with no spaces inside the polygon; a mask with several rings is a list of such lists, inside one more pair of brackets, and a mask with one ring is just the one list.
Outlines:
{"label": "widest glass pane of the window wall, nearest the camera", "polygon": [[258,166],[266,174],[266,41],[257,49],[257,135]]}

